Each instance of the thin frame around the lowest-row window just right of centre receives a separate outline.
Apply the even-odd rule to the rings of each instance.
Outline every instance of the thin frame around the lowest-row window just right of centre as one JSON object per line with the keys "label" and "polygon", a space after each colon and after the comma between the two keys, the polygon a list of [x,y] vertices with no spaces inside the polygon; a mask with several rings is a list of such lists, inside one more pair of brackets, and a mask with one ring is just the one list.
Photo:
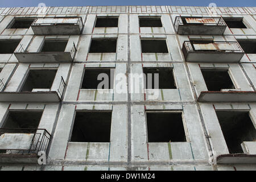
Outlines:
{"label": "thin frame around the lowest-row window just right of centre", "polygon": [[[189,135],[188,135],[188,129],[187,129],[187,124],[185,122],[185,116],[184,116],[184,111],[183,110],[145,110],[145,119],[146,119],[146,135],[147,135],[147,143],[170,143],[170,142],[149,142],[148,141],[148,126],[147,126],[147,113],[174,113],[174,114],[180,114],[181,119],[182,119],[182,125],[183,125],[183,130],[185,134],[185,142],[189,142]],[[171,143],[180,143],[180,142],[172,142]]]}

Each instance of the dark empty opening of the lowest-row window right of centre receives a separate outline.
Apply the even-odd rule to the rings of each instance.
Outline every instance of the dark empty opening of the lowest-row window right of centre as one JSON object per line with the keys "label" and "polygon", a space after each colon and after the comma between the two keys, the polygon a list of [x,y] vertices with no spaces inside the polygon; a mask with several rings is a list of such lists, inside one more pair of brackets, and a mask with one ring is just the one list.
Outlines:
{"label": "dark empty opening of the lowest-row window right of centre", "polygon": [[148,142],[186,142],[181,113],[147,112]]}

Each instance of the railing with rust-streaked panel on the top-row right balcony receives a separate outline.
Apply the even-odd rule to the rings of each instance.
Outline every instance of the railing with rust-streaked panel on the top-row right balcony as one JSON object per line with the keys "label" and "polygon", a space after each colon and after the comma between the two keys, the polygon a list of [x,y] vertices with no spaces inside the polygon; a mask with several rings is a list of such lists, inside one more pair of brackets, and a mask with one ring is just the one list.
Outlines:
{"label": "railing with rust-streaked panel on the top-row right balcony", "polygon": [[[192,24],[200,24],[200,21],[197,23],[186,22],[186,20],[185,20],[186,18],[188,18],[188,19],[203,19],[201,24],[204,24],[204,25],[211,25],[211,26],[225,26],[226,25],[224,19],[222,19],[221,17],[176,16],[175,22],[174,22],[174,27],[175,27],[176,32],[178,30],[178,27],[180,25],[184,25],[184,23],[187,24],[188,26],[192,25]],[[208,19],[212,19],[214,21],[209,22]],[[204,20],[205,20],[205,22],[204,22]]]}

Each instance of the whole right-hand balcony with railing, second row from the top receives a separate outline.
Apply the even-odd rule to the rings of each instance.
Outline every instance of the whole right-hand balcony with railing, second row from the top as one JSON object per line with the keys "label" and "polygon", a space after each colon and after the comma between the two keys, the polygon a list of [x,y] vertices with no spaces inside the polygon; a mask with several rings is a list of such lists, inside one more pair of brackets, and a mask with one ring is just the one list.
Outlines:
{"label": "whole right-hand balcony with railing, second row from the top", "polygon": [[238,63],[245,55],[237,42],[185,41],[182,51],[186,61],[202,63]]}

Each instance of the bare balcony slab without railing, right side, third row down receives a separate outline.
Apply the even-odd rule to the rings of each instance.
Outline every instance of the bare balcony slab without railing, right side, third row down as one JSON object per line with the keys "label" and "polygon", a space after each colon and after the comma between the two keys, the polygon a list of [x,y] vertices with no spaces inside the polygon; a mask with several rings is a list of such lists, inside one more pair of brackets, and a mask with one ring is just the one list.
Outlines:
{"label": "bare balcony slab without railing, right side, third row down", "polygon": [[256,102],[255,91],[203,91],[199,102]]}

